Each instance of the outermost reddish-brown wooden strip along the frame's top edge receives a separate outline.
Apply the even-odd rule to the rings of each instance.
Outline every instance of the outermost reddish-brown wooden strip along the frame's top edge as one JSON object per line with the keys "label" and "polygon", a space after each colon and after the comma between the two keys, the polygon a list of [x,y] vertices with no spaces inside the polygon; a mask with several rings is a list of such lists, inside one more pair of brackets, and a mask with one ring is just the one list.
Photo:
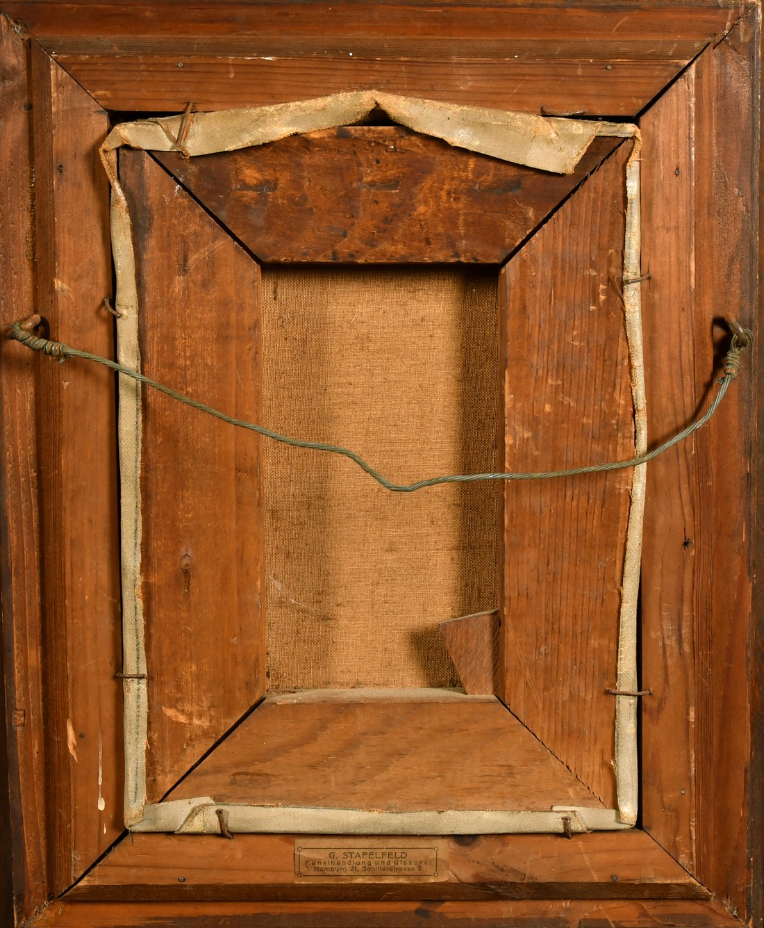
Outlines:
{"label": "outermost reddish-brown wooden strip along the frame's top edge", "polygon": [[[172,17],[167,15],[172,6]],[[449,55],[455,55],[465,40],[515,42],[516,51],[531,43],[542,43],[545,56],[564,54],[569,45],[583,45],[586,58],[597,58],[603,41],[618,44],[618,57],[632,49],[655,57],[670,43],[707,42],[727,30],[743,12],[752,9],[752,0],[694,0],[694,2],[598,4],[565,3],[561,0],[511,0],[508,3],[362,3],[337,5],[323,2],[263,3],[253,7],[242,0],[199,0],[178,7],[172,0],[121,3],[116,0],[71,3],[64,0],[5,0],[4,8],[41,43],[55,43],[64,52],[68,42],[90,41],[112,51],[121,41],[146,39],[172,43],[183,40],[196,45],[199,39],[233,40],[240,43],[268,43],[282,40],[315,45],[324,50],[327,41],[337,38],[365,38],[375,54],[385,53],[388,44],[407,42],[420,55],[427,55],[430,43],[448,42]],[[658,43],[658,45],[656,45]],[[89,47],[92,47],[89,46]],[[96,46],[97,47],[97,46]],[[346,50],[345,46],[341,46]],[[257,53],[261,49],[254,46]],[[648,49],[652,49],[652,55]],[[141,50],[146,51],[146,48]],[[277,48],[275,50],[278,50]],[[352,48],[350,48],[352,50]],[[669,52],[670,53],[670,52]],[[401,52],[395,49],[398,57]]]}

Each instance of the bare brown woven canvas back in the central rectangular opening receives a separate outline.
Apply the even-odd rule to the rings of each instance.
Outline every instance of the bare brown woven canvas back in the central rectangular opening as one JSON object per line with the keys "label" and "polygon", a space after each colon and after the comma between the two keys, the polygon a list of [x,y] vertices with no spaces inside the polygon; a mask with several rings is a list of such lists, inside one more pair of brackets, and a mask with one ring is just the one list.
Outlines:
{"label": "bare brown woven canvas back in the central rectangular opening", "polygon": [[[263,422],[401,481],[497,467],[497,275],[263,269]],[[496,483],[392,494],[264,444],[271,690],[452,687],[438,623],[493,609]]]}

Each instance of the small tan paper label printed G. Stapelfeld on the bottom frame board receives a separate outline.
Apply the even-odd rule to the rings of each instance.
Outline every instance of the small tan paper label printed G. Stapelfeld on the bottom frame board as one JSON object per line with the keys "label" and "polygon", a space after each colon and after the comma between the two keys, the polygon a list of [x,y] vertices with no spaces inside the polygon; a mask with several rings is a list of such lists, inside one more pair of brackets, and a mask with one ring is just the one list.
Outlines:
{"label": "small tan paper label printed G. Stapelfeld on the bottom frame board", "polygon": [[298,839],[295,877],[313,883],[446,881],[448,842],[437,838]]}

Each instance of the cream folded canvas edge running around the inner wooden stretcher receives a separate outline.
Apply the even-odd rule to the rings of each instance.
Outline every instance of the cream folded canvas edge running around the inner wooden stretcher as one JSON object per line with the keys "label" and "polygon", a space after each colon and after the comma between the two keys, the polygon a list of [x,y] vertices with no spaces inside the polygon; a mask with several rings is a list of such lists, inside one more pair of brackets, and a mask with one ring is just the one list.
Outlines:
{"label": "cream folded canvas edge running around the inner wooden stretcher", "polygon": [[[646,449],[644,429],[644,377],[642,363],[642,323],[640,313],[640,213],[639,148],[636,126],[620,122],[590,122],[534,116],[529,113],[485,110],[383,94],[377,91],[336,94],[249,110],[194,113],[163,119],[123,122],[109,133],[101,148],[101,159],[111,185],[111,239],[117,278],[116,310],[117,357],[125,367],[140,370],[138,345],[138,295],[135,283],[133,235],[127,200],[117,175],[117,149],[121,146],[154,151],[183,150],[188,156],[262,145],[288,135],[348,125],[363,120],[376,108],[384,110],[394,122],[416,132],[434,135],[458,148],[478,151],[502,161],[569,174],[575,170],[592,140],[600,135],[633,138],[634,148],[627,165],[626,238],[624,242],[624,307],[629,341],[631,382],[636,419],[636,454]],[[180,140],[180,145],[178,144]],[[634,281],[627,283],[626,281]],[[143,602],[141,599],[141,388],[127,377],[119,378],[120,397],[120,473],[121,473],[121,571],[122,638],[124,680],[125,743],[125,825],[152,831],[176,831],[177,826],[162,824],[159,809],[172,804],[146,806],[146,725],[148,715],[146,649]],[[618,633],[618,690],[636,689],[636,606],[639,564],[642,548],[645,465],[634,469],[631,489],[629,527],[624,562],[623,593]],[[610,817],[585,820],[592,828],[630,827],[637,810],[636,699],[616,696],[616,733],[614,766],[618,812]],[[206,803],[206,800],[204,801]],[[204,806],[207,807],[206,805]],[[219,806],[218,806],[219,807]],[[262,817],[274,816],[273,810],[257,806],[236,806],[252,810],[244,816],[249,831],[263,831]],[[315,816],[315,810],[288,810],[291,818],[287,831],[304,831],[296,825]],[[286,817],[282,809],[282,818]],[[390,813],[363,813],[336,810],[332,831],[378,833],[380,816],[392,828],[405,819],[407,831],[429,829],[427,821],[458,821],[457,831],[559,831],[562,818],[550,813],[522,812],[445,812],[406,813],[401,818]],[[239,813],[236,813],[239,815]],[[332,810],[321,815],[332,817]],[[350,818],[348,818],[350,816]],[[412,818],[414,816],[414,818]],[[444,819],[442,816],[452,818]],[[489,818],[492,824],[489,824]],[[419,818],[417,818],[419,817]],[[256,820],[257,819],[257,820]],[[292,820],[294,819],[294,821]],[[351,820],[350,820],[351,819]],[[238,819],[236,819],[238,820]],[[285,818],[286,820],[286,818]],[[584,820],[584,819],[582,819]],[[202,824],[206,828],[204,818]],[[151,826],[150,823],[154,822]],[[255,822],[255,824],[252,824]],[[345,822],[343,825],[342,822]],[[418,824],[417,824],[418,822]],[[501,825],[497,823],[501,823]],[[532,822],[532,825],[528,825]],[[606,823],[604,823],[606,822]],[[282,822],[283,824],[283,822]],[[257,825],[257,827],[256,827]],[[185,827],[185,826],[184,826]],[[285,826],[286,827],[286,826]],[[590,825],[586,826],[587,828]],[[200,825],[201,829],[201,825]],[[185,830],[188,829],[185,827]],[[272,829],[272,830],[280,830]],[[315,827],[308,829],[316,831]],[[404,833],[393,831],[391,833]],[[445,832],[444,832],[445,833]]]}

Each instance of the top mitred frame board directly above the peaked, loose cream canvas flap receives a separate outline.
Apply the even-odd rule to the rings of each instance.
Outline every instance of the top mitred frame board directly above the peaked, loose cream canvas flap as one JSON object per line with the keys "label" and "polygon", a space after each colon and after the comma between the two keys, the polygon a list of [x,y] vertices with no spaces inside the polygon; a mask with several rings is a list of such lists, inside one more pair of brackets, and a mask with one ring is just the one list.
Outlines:
{"label": "top mitred frame board directly above the peaked, loose cream canvas flap", "polygon": [[[108,110],[177,112],[286,103],[382,90],[496,110],[633,117],[687,60],[587,58],[236,58],[220,55],[69,55],[57,61]],[[179,68],[181,64],[183,67]],[[223,66],[222,66],[223,64]]]}

